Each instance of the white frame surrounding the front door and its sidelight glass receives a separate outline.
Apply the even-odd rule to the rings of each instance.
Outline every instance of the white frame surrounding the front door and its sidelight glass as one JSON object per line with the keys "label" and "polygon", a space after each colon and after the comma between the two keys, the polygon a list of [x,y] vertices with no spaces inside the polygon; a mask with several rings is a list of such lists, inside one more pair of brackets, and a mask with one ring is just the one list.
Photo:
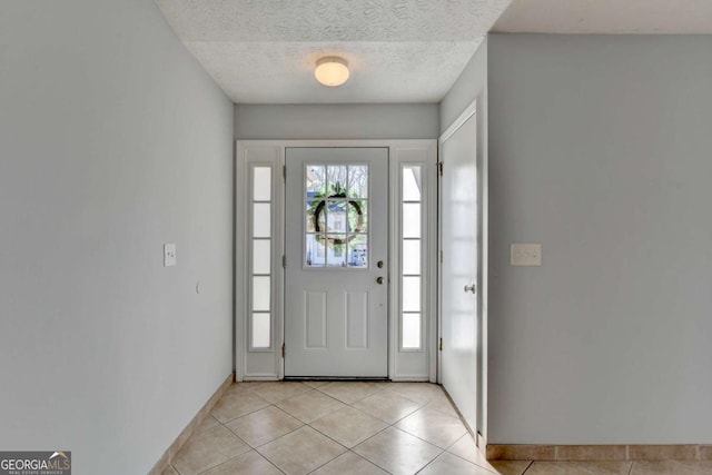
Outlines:
{"label": "white frame surrounding the front door and its sidelight glass", "polygon": [[[277,380],[284,379],[284,358],[281,358],[281,344],[284,343],[284,286],[285,271],[281,266],[278,267],[278,271],[274,278],[277,280],[276,289],[278,295],[275,298],[275,311],[276,318],[273,318],[273,347],[271,352],[274,358],[274,365],[269,365],[268,370],[248,370],[247,362],[247,266],[249,263],[249,237],[247,236],[248,226],[245,226],[246,219],[250,216],[248,205],[249,199],[247,190],[249,190],[249,164],[247,150],[250,147],[264,147],[271,148],[275,151],[275,156],[271,157],[271,165],[275,170],[279,171],[281,177],[281,169],[285,166],[285,156],[287,148],[300,148],[300,147],[343,147],[343,148],[366,148],[378,147],[388,149],[388,206],[390,210],[389,225],[388,225],[388,276],[389,276],[389,294],[388,294],[388,377],[393,380],[429,380],[435,382],[437,377],[437,177],[435,172],[435,164],[437,161],[437,140],[432,139],[394,139],[394,140],[236,140],[235,148],[235,316],[234,316],[234,359],[236,380]],[[425,309],[429,318],[425,321],[424,329],[426,331],[424,336],[423,354],[426,359],[426,370],[421,373],[404,373],[397,374],[396,367],[396,353],[398,352],[398,330],[396,324],[398,321],[398,301],[399,285],[394,278],[398,276],[398,256],[399,256],[399,241],[398,237],[398,222],[400,214],[398,209],[398,170],[400,162],[407,162],[408,160],[399,161],[397,155],[398,151],[407,150],[421,150],[425,151],[425,160],[423,165],[425,176],[427,177],[428,189],[433,190],[427,197],[426,212],[429,217],[427,229],[425,232],[431,237],[428,239],[428,248],[426,256],[428,256],[427,263],[423,263],[431,269],[426,281],[425,291],[427,298],[425,299]],[[432,164],[432,167],[429,165]],[[281,255],[285,253],[285,181],[283,179],[273,181],[275,184],[275,212],[274,212],[274,238],[279,241],[279,248]],[[277,257],[277,256],[274,256]],[[280,258],[281,256],[279,256]],[[277,293],[277,290],[276,290]],[[287,349],[288,350],[288,349]],[[260,355],[267,357],[269,352],[261,352]],[[260,357],[263,357],[260,356]]]}

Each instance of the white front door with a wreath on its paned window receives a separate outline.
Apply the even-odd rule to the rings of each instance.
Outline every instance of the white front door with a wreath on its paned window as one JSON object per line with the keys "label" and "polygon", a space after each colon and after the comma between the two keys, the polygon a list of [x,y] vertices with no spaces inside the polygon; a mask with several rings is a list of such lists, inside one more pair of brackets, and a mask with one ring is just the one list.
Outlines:
{"label": "white front door with a wreath on its paned window", "polygon": [[388,376],[388,149],[286,149],[285,376]]}

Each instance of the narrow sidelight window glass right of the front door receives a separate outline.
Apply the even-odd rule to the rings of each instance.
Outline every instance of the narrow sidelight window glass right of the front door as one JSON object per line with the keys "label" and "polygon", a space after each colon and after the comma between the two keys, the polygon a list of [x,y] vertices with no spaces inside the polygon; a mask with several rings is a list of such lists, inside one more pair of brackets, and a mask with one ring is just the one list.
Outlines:
{"label": "narrow sidelight window glass right of the front door", "polygon": [[400,166],[400,349],[423,349],[423,169]]}

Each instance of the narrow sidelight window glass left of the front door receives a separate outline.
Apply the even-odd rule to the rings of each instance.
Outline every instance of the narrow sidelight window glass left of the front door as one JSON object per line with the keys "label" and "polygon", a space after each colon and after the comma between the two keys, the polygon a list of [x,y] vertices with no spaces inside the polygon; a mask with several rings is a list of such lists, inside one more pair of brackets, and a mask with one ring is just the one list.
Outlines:
{"label": "narrow sidelight window glass left of the front door", "polygon": [[273,167],[250,168],[250,313],[249,349],[271,350],[273,288]]}

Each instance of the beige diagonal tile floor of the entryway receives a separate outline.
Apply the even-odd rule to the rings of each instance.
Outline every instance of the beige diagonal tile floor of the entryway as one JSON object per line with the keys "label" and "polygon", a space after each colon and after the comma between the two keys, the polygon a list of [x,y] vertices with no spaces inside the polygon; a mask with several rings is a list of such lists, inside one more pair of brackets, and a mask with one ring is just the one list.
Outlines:
{"label": "beige diagonal tile floor of the entryway", "polygon": [[239,383],[164,475],[712,475],[712,462],[492,462],[439,386]]}

